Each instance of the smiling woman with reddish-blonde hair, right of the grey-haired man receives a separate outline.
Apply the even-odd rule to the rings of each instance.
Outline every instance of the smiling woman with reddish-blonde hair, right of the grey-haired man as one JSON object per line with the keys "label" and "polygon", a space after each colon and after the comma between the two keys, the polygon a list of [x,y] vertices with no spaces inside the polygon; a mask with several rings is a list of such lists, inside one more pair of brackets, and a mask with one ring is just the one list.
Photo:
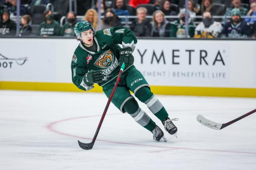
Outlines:
{"label": "smiling woman with reddish-blonde hair, right of the grey-haired man", "polygon": [[164,18],[161,10],[156,10],[152,16],[151,37],[169,37],[170,23]]}

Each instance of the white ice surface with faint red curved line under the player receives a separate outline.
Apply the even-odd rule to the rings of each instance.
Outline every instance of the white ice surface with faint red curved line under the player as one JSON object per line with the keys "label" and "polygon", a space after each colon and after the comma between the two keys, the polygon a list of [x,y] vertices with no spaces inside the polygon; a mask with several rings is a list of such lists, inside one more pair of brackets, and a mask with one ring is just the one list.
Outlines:
{"label": "white ice surface with faint red curved line under the player", "polygon": [[[110,105],[93,149],[90,143],[107,103],[103,93],[0,90],[0,170],[256,170],[256,113],[222,129],[196,121],[201,114],[226,123],[256,108],[256,99],[156,95],[178,128],[178,139],[156,143]],[[161,122],[139,103],[158,126]]]}

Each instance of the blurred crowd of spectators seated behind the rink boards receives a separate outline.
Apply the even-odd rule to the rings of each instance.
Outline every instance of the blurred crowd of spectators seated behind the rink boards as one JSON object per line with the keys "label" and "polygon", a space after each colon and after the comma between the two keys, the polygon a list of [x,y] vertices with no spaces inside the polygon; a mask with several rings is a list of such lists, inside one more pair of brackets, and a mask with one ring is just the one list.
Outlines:
{"label": "blurred crowd of spectators seated behind the rink boards", "polygon": [[[60,1],[53,2],[56,5],[56,2]],[[101,29],[122,26],[130,28],[138,37],[186,38],[185,0],[183,0],[183,6],[180,5],[181,1],[130,0],[128,2],[127,0],[111,0],[111,3],[106,3],[107,0],[106,2],[101,0],[100,13],[104,16],[100,22]],[[256,38],[256,0],[230,0],[228,6],[227,4],[219,4],[222,1],[224,2],[224,0],[188,1],[187,38]],[[79,20],[87,20],[92,23],[96,30],[99,30],[98,0],[95,0],[93,5],[91,0],[86,2],[77,0],[77,3],[80,3],[78,4],[77,15],[83,17],[77,17],[73,11],[68,12],[66,6],[66,10],[62,9],[65,15],[63,25],[60,20],[63,15],[56,15],[56,12],[50,8],[45,8],[41,14],[41,24],[35,25],[30,9],[40,4],[46,6],[51,2],[51,0],[21,0],[19,36],[75,37],[73,28]],[[68,0],[62,0],[62,2],[65,4]],[[127,2],[128,4],[126,4]],[[90,4],[90,8],[88,8],[88,4]],[[108,6],[107,4],[111,5]],[[249,10],[246,8],[246,4]],[[224,8],[216,8],[218,5]],[[17,0],[0,0],[0,36],[16,34],[16,6]],[[58,8],[58,3],[56,7]],[[214,15],[223,15],[223,17],[222,19],[213,18]],[[136,17],[127,18],[127,16]],[[34,27],[31,27],[33,25]]]}

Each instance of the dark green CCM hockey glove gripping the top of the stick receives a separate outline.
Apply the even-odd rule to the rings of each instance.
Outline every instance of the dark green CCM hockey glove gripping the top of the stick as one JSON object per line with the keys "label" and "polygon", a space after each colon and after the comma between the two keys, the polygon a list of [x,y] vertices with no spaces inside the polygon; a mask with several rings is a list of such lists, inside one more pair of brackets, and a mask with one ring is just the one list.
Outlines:
{"label": "dark green CCM hockey glove gripping the top of the stick", "polygon": [[125,63],[126,67],[133,64],[134,57],[132,55],[132,48],[125,47],[125,48],[122,48],[119,51],[119,65],[120,65],[120,67],[121,67],[123,62]]}

